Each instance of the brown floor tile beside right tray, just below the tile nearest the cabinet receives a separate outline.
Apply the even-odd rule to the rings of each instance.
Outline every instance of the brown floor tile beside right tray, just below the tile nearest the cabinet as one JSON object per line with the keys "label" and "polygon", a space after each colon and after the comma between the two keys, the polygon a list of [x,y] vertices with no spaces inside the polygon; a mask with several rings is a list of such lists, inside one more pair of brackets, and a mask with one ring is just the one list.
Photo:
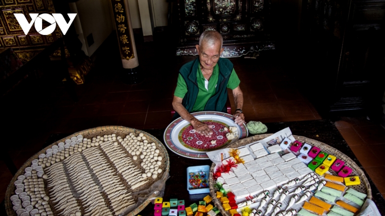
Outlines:
{"label": "brown floor tile beside right tray, just below the tile nearest the cabinet", "polygon": [[378,167],[383,164],[367,146],[350,146],[350,149],[364,168]]}

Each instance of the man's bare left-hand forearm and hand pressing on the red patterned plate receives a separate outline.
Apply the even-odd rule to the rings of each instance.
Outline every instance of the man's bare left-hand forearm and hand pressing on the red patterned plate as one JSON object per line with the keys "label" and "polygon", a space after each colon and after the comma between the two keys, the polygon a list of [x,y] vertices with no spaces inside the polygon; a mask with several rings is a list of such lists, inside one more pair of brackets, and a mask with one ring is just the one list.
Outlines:
{"label": "man's bare left-hand forearm and hand pressing on the red patterned plate", "polygon": [[172,108],[187,122],[189,122],[196,132],[205,136],[211,137],[213,133],[210,127],[206,124],[201,123],[195,117],[193,117],[182,105],[182,98],[174,96],[172,99]]}

